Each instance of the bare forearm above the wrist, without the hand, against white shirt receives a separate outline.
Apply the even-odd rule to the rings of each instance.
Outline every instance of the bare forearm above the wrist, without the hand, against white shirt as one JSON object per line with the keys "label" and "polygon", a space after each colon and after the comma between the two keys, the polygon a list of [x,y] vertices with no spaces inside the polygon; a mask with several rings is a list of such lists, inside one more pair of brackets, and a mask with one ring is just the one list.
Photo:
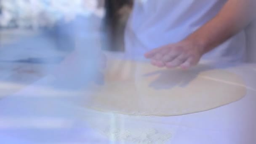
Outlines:
{"label": "bare forearm above the wrist, without the hand, against white shirt", "polygon": [[197,43],[202,53],[211,51],[255,18],[256,0],[228,0],[221,11],[185,40]]}

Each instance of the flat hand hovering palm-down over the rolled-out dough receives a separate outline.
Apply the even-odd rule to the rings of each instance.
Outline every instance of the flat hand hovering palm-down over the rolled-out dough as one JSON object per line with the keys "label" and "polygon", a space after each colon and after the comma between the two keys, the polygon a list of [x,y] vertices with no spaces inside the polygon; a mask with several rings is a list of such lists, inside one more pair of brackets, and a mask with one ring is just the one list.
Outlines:
{"label": "flat hand hovering palm-down over the rolled-out dough", "polygon": [[145,53],[157,67],[181,67],[187,69],[195,66],[203,55],[203,47],[189,40],[165,45]]}

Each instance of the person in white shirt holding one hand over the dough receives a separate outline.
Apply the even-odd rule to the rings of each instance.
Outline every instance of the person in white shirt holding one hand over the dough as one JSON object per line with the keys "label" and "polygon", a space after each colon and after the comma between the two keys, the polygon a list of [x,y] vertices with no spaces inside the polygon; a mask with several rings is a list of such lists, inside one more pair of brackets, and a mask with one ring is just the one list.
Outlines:
{"label": "person in white shirt holding one hand over the dough", "polygon": [[200,59],[244,61],[244,28],[255,0],[135,0],[125,49],[157,67],[188,68]]}

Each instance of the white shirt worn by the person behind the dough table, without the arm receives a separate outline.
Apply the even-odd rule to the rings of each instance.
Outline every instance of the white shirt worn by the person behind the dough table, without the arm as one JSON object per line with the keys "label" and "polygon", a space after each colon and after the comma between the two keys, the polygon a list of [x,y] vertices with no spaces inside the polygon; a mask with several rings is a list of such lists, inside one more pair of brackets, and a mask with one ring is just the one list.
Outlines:
{"label": "white shirt worn by the person behind the dough table, without the arm", "polygon": [[[212,19],[227,0],[135,0],[125,29],[126,53],[144,53],[170,43],[177,43]],[[202,59],[243,61],[245,32],[206,53]]]}

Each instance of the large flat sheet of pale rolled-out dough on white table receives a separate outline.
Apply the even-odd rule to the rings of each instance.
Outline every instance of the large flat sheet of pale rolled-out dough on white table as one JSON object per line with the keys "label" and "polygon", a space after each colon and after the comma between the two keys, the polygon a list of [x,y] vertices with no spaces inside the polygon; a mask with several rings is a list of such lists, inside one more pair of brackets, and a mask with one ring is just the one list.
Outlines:
{"label": "large flat sheet of pale rolled-out dough on white table", "polygon": [[201,112],[245,96],[242,78],[206,65],[160,69],[146,62],[108,61],[103,85],[92,86],[86,107],[127,115],[173,116]]}

